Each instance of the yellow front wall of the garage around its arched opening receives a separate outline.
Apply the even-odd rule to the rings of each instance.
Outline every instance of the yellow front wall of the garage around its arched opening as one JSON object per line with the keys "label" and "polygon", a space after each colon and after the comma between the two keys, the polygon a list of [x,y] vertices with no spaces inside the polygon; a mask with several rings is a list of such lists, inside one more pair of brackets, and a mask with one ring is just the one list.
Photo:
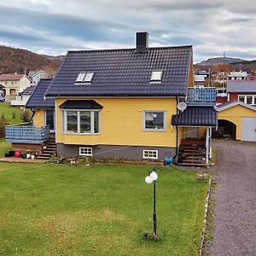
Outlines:
{"label": "yellow front wall of the garage around its arched opening", "polygon": [[218,112],[218,120],[227,120],[236,125],[236,140],[241,140],[242,117],[256,117],[256,111],[242,106],[235,106]]}

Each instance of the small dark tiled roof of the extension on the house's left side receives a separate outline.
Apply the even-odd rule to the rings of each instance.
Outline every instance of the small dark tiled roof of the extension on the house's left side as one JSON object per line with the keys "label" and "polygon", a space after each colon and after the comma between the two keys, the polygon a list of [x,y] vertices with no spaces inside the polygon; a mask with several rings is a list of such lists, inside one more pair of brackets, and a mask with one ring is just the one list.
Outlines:
{"label": "small dark tiled roof of the extension on the house's left side", "polygon": [[55,108],[54,99],[44,99],[45,91],[48,89],[52,79],[41,79],[36,85],[32,96],[26,102],[25,108]]}

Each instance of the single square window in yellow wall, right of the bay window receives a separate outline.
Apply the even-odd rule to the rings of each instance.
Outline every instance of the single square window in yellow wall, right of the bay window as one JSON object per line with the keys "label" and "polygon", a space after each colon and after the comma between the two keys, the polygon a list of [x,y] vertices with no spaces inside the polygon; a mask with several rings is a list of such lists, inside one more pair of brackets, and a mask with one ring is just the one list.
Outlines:
{"label": "single square window in yellow wall, right of the bay window", "polygon": [[165,131],[166,117],[165,111],[144,111],[143,129],[151,131]]}

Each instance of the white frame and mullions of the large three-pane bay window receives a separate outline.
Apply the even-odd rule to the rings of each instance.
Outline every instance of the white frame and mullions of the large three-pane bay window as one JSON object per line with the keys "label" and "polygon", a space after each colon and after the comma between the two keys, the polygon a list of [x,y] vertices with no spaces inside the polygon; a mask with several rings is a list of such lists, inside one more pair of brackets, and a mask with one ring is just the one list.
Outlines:
{"label": "white frame and mullions of the large three-pane bay window", "polygon": [[[67,111],[76,111],[78,113],[78,132],[67,131]],[[80,132],[80,112],[90,112],[90,132]],[[94,132],[94,118],[95,112],[98,112],[99,131]],[[62,133],[64,134],[76,134],[76,135],[98,135],[101,133],[101,111],[99,109],[62,109]]]}

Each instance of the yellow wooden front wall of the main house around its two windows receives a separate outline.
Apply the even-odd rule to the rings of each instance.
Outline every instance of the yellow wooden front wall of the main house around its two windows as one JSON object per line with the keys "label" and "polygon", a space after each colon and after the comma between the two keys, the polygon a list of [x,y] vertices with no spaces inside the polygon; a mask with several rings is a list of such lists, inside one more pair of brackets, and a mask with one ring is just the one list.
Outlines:
{"label": "yellow wooden front wall of the main house around its two windows", "polygon": [[[174,98],[95,99],[103,106],[98,135],[62,133],[62,113],[59,106],[65,101],[66,99],[56,100],[58,143],[176,147],[176,128],[171,127],[172,114],[176,113]],[[143,110],[165,110],[166,131],[143,131]]]}

